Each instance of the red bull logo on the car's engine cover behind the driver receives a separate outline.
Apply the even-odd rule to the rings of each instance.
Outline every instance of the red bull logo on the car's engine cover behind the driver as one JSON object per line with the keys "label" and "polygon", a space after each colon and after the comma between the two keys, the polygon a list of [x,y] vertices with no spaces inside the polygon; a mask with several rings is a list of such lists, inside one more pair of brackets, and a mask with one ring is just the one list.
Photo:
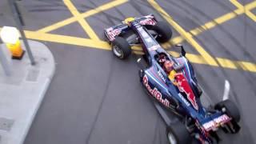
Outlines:
{"label": "red bull logo on the car's engine cover behind the driver", "polygon": [[195,100],[193,91],[189,83],[184,78],[183,74],[176,74],[175,80],[177,82],[178,90],[186,94],[187,99],[190,101],[195,110],[198,110],[198,103]]}

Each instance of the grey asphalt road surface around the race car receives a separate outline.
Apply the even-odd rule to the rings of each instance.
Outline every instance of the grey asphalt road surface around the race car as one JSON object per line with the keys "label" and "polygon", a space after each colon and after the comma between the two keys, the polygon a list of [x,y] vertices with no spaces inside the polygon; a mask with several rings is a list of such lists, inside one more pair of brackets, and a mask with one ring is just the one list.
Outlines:
{"label": "grey asphalt road surface around the race car", "polygon": [[[73,0],[79,13],[110,2]],[[237,9],[230,1],[157,0],[179,26],[189,31]],[[250,0],[240,0],[243,6]],[[72,17],[60,0],[23,0],[20,2],[25,30],[39,30]],[[256,14],[256,8],[251,10]],[[165,20],[150,2],[130,0],[86,18],[103,41],[102,30],[124,18],[154,14]],[[249,14],[250,15],[250,14]],[[0,2],[0,26],[14,26],[6,0]],[[174,30],[174,29],[173,29]],[[37,33],[38,34],[38,33]],[[79,22],[51,30],[48,34],[90,38]],[[174,30],[174,37],[179,36]],[[38,34],[38,38],[40,34]],[[238,14],[194,39],[214,58],[256,63],[256,25],[254,18]],[[166,142],[166,126],[138,81],[137,56],[121,61],[110,50],[95,49],[79,43],[45,42],[57,62],[56,73],[26,137],[25,144],[143,144]],[[183,41],[186,51],[199,54]],[[170,48],[172,50],[173,48]],[[169,50],[169,49],[168,49]],[[221,134],[220,143],[256,143],[256,73],[242,69],[193,64],[198,82],[213,102],[222,100],[224,82],[230,82],[230,99],[241,112],[242,130],[235,135]]]}

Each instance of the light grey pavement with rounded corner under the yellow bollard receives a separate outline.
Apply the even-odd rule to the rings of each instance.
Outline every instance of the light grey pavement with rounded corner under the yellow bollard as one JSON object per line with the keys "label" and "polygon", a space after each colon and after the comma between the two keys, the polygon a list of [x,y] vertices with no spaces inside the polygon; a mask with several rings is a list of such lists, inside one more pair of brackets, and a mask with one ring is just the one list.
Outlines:
{"label": "light grey pavement with rounded corner under the yellow bollard", "polygon": [[28,42],[34,55],[35,66],[30,65],[27,54],[21,61],[12,60],[6,46],[0,46],[11,71],[10,76],[6,76],[0,66],[1,144],[23,143],[54,76],[54,57],[47,46],[41,42]]}

